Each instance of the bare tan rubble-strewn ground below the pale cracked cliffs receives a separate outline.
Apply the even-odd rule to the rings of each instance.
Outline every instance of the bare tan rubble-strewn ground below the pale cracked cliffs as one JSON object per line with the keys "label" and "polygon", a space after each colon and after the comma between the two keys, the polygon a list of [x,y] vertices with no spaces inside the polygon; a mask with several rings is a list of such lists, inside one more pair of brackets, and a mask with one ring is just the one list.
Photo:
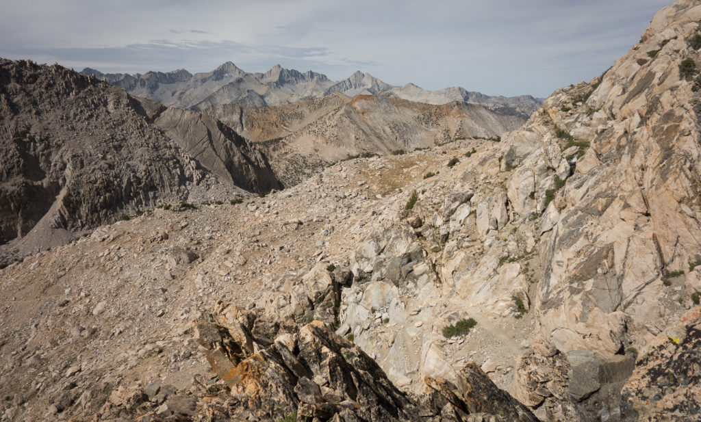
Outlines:
{"label": "bare tan rubble-strewn ground below the pale cracked cliffs", "polygon": [[[216,300],[252,307],[318,262],[348,267],[369,227],[404,208],[407,193],[398,190],[426,190],[417,207],[442,203],[451,181],[492,146],[459,141],[351,160],[242,204],[154,209],[0,270],[6,339],[0,395],[10,398],[4,405],[15,418],[48,417],[66,386],[83,392],[155,381],[189,388],[195,374],[209,372],[190,328],[200,311]],[[463,156],[473,148],[477,154]],[[463,162],[448,168],[456,156]],[[423,179],[428,171],[442,177]],[[529,325],[527,317],[485,317],[467,339],[444,346],[461,362],[490,358],[505,386]],[[52,417],[81,412],[72,407]]]}

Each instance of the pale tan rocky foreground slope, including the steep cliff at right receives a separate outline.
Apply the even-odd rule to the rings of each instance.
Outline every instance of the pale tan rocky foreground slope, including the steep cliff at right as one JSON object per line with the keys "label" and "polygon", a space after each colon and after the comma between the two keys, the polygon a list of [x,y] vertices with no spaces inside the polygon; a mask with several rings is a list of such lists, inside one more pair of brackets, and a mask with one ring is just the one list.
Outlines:
{"label": "pale tan rocky foreground slope, including the steep cliff at right", "polygon": [[700,69],[701,1],[678,0],[500,142],[344,160],[13,262],[3,422],[698,421]]}

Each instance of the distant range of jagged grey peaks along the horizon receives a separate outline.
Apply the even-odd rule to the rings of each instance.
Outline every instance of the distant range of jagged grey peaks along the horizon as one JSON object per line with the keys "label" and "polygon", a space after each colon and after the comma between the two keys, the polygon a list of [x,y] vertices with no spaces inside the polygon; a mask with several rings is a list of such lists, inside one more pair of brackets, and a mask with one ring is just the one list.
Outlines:
{"label": "distant range of jagged grey peaks along the horizon", "polygon": [[530,95],[491,97],[465,90],[463,87],[449,87],[437,91],[424,90],[412,83],[398,87],[361,71],[334,82],[322,73],[302,73],[294,69],[285,69],[279,64],[266,73],[248,73],[232,62],[226,62],[211,72],[195,74],[178,69],[166,73],[149,71],[130,75],[102,73],[90,68],[83,69],[81,73],[107,80],[113,85],[123,87],[132,95],[154,99],[165,106],[198,111],[209,106],[231,103],[258,107],[281,106],[300,99],[319,99],[339,92],[348,97],[372,94],[435,105],[463,101],[481,104],[492,111],[526,119],[543,102]]}

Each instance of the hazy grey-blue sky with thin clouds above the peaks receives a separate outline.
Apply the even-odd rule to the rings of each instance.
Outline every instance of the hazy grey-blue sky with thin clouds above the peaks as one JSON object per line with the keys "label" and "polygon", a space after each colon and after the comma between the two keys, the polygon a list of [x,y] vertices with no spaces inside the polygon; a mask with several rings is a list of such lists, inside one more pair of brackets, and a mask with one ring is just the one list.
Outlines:
{"label": "hazy grey-blue sky with thin clouds above the peaks", "polygon": [[103,73],[356,70],[547,97],[590,80],[672,0],[3,0],[0,57]]}

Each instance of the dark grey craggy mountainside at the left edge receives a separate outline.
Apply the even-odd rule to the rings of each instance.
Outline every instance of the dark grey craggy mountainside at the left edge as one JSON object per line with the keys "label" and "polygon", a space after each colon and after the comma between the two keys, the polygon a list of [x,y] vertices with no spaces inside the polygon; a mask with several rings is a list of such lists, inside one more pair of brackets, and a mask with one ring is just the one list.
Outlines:
{"label": "dark grey craggy mountainside at the left edge", "polygon": [[0,157],[0,244],[23,241],[6,252],[57,246],[212,188],[226,197],[280,188],[266,157],[222,122],[61,66],[5,59]]}

